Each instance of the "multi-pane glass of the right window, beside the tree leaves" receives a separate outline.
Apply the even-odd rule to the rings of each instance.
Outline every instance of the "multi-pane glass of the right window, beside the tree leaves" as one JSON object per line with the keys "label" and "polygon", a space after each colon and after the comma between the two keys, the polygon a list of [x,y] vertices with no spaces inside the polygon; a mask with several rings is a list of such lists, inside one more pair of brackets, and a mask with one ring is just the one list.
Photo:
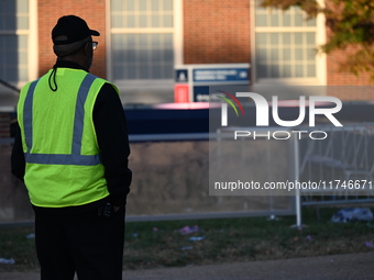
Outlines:
{"label": "multi-pane glass of the right window, beside the tree leaves", "polygon": [[298,7],[286,11],[255,5],[255,76],[261,79],[316,79],[320,32],[317,19]]}

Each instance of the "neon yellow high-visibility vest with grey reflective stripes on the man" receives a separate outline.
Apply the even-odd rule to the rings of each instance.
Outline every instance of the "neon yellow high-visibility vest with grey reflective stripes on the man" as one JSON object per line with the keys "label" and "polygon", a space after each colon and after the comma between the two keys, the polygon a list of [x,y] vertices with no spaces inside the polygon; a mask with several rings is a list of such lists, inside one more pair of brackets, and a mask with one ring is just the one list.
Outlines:
{"label": "neon yellow high-visibility vest with grey reflective stripes on the man", "polygon": [[92,120],[96,98],[108,81],[58,68],[53,91],[51,71],[25,85],[18,103],[24,182],[36,206],[84,205],[109,195]]}

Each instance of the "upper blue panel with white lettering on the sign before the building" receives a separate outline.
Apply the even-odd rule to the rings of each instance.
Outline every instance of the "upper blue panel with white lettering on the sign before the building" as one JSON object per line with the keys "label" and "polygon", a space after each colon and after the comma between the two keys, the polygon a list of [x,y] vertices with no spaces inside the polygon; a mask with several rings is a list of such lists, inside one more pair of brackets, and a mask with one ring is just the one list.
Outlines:
{"label": "upper blue panel with white lettering on the sign before the building", "polygon": [[194,69],[195,82],[249,82],[248,68],[204,68]]}

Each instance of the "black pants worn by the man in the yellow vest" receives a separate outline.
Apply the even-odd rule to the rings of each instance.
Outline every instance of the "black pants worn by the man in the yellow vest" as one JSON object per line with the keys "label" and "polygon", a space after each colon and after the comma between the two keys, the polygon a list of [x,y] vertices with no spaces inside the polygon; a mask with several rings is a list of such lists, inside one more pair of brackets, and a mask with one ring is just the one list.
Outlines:
{"label": "black pants worn by the man in the yellow vest", "polygon": [[35,212],[36,253],[42,280],[122,279],[124,209],[110,217],[98,209],[79,214]]}

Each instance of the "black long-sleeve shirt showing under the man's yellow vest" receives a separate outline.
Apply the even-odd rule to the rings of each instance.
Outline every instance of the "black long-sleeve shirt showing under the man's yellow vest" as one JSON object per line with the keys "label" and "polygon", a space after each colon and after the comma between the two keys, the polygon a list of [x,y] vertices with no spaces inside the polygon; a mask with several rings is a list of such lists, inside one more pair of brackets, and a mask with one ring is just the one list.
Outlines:
{"label": "black long-sleeve shirt showing under the man's yellow vest", "polygon": [[[82,69],[79,65],[65,60],[57,61],[55,67]],[[128,127],[121,100],[110,83],[103,85],[100,89],[92,117],[110,202],[114,206],[125,205],[132,180],[132,172],[128,167],[130,155]],[[14,138],[11,167],[12,173],[23,180],[25,159],[19,126]]]}

